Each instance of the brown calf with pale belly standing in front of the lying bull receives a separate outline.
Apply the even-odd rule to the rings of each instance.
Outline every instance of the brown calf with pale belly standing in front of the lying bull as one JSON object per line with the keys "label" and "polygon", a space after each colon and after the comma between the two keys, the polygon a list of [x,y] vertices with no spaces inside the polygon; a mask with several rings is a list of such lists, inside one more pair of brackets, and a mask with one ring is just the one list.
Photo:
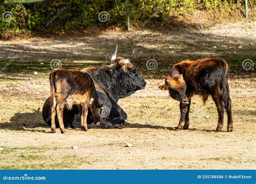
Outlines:
{"label": "brown calf with pale belly standing in front of the lying bull", "polygon": [[[96,117],[98,110],[102,107],[98,103],[95,85],[90,74],[80,72],[80,70],[55,69],[50,73],[51,97],[51,130],[56,132],[55,116],[59,119],[59,128],[65,132],[63,124],[63,110],[72,109],[72,105],[77,105],[81,115],[82,130],[87,130],[87,112],[90,105],[92,116]],[[94,103],[93,103],[94,101]]]}

